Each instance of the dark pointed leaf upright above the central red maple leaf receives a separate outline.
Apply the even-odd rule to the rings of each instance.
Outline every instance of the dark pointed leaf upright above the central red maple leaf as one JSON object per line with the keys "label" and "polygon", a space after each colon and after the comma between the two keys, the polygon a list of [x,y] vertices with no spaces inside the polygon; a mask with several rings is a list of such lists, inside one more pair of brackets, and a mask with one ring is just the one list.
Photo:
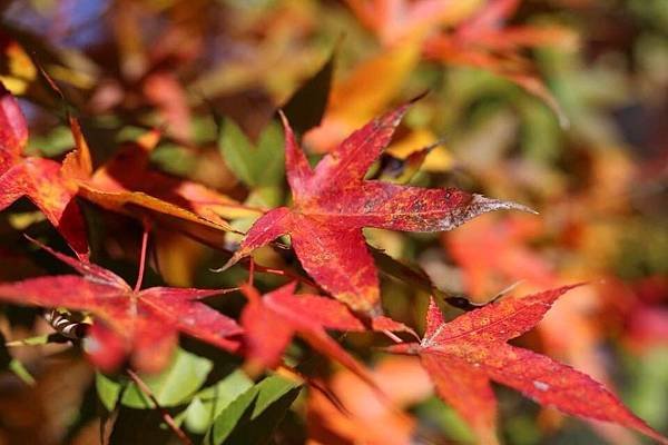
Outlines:
{"label": "dark pointed leaf upright above the central red maple leaf", "polygon": [[306,130],[317,127],[323,119],[332,89],[334,61],[335,51],[315,76],[308,79],[283,106],[283,112],[296,132],[304,134]]}

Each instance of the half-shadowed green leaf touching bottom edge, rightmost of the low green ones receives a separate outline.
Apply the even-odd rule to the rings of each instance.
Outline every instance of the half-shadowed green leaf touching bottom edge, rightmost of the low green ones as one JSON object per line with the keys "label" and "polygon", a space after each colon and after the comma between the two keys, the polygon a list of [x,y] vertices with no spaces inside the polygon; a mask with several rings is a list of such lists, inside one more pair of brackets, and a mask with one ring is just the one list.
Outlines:
{"label": "half-shadowed green leaf touching bottom edge, rightmost of the low green ones", "polygon": [[279,376],[265,378],[220,412],[204,444],[267,444],[299,388]]}

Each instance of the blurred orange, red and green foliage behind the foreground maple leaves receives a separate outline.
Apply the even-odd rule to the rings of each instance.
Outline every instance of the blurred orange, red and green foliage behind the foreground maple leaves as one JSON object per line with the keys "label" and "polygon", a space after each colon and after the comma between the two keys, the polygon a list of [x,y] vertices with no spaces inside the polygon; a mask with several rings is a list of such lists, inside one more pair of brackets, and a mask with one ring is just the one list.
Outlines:
{"label": "blurred orange, red and green foliage behind the foreground maple leaves", "polygon": [[[81,119],[96,165],[122,141],[159,128],[151,169],[253,208],[289,199],[282,167],[269,174],[244,164],[278,159],[281,166],[281,138],[266,136],[275,130],[277,108],[298,103],[303,116],[294,109],[289,116],[317,158],[377,113],[428,91],[370,175],[512,199],[540,217],[488,215],[446,234],[367,230],[370,244],[419,265],[444,293],[480,304],[510,287],[522,294],[589,281],[519,344],[605,382],[668,433],[668,1],[0,4],[0,80],[29,118],[31,155],[61,159],[73,146],[66,106],[41,68]],[[299,100],[291,102],[295,91]],[[220,122],[235,122],[249,144],[266,149],[239,160],[237,139]],[[136,222],[92,207],[86,215],[94,256],[132,277]],[[220,216],[239,229],[254,218]],[[62,270],[26,247],[21,231],[59,243],[29,204],[12,206],[0,215],[0,279]],[[155,256],[160,277],[154,274],[154,283],[225,286],[245,276],[242,269],[209,274],[220,254],[173,233],[157,235]],[[258,255],[263,265],[289,260],[269,250]],[[267,276],[259,283],[278,281]],[[426,293],[383,275],[383,303],[394,318],[421,329],[426,301]],[[226,309],[234,312],[234,304]],[[4,306],[7,340],[48,333],[38,314]],[[327,378],[355,416],[343,416],[318,393],[302,395],[276,443],[354,443],[361,431],[369,443],[471,443],[415,363],[369,353],[363,335],[346,343],[407,416],[335,370]],[[9,349],[9,369],[0,375],[0,444],[97,443],[94,372],[81,354],[63,345]],[[505,443],[642,443],[621,428],[564,417],[498,389]]]}

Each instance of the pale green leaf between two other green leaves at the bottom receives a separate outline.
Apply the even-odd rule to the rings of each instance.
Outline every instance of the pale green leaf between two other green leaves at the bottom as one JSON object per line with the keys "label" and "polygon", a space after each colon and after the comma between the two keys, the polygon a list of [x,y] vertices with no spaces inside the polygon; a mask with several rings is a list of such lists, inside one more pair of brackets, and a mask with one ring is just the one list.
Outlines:
{"label": "pale green leaf between two other green leaves at the bottom", "polygon": [[217,384],[202,389],[184,413],[186,428],[193,433],[206,433],[223,409],[250,387],[253,380],[237,369]]}

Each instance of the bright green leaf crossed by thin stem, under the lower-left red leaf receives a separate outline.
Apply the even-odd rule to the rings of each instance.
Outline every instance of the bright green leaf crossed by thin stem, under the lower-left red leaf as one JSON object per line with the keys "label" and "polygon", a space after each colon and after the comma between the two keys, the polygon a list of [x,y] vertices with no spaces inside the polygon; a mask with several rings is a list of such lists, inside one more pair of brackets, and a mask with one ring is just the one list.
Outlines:
{"label": "bright green leaf crossed by thin stem, under the lower-left red leaf", "polygon": [[[167,369],[158,375],[143,376],[163,407],[177,406],[189,400],[206,380],[213,364],[209,359],[178,349]],[[154,407],[153,402],[134,383],[122,394],[120,403],[131,408]]]}

